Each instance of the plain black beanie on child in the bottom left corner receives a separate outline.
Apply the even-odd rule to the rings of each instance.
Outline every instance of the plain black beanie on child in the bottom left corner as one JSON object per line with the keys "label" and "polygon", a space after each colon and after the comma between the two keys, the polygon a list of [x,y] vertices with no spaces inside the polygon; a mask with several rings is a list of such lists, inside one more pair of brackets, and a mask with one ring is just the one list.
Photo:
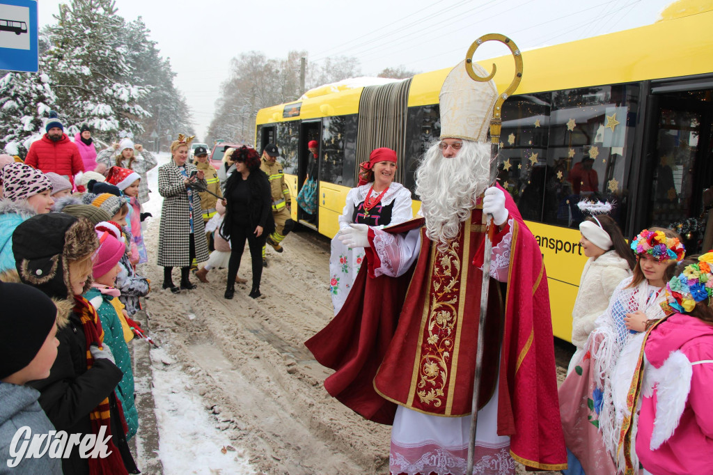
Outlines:
{"label": "plain black beanie on child in the bottom left corner", "polygon": [[57,319],[51,298],[31,285],[0,282],[0,379],[34,359]]}

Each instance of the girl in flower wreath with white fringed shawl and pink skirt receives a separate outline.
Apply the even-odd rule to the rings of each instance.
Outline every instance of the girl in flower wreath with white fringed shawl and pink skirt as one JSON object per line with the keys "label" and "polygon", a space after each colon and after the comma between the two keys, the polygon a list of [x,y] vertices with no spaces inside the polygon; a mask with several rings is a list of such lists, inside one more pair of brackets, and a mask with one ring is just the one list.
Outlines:
{"label": "girl in flower wreath with white fringed shawl and pink skirt", "polygon": [[[617,451],[632,377],[650,322],[665,315],[660,306],[675,262],[685,250],[672,230],[650,228],[632,240],[637,263],[632,277],[617,285],[597,318],[585,352],[558,390],[569,468],[563,473],[611,475],[625,472]],[[634,414],[632,427],[636,427]],[[632,435],[632,440],[635,434]],[[637,464],[636,454],[632,460]]]}

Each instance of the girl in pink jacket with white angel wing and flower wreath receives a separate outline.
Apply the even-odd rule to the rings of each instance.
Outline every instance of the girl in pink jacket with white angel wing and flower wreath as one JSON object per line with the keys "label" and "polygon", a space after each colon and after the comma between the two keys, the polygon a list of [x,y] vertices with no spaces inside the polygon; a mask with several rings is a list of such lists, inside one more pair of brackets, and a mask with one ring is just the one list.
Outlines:
{"label": "girl in pink jacket with white angel wing and flower wreath", "polygon": [[667,317],[640,353],[632,402],[640,402],[635,440],[645,474],[713,474],[712,267],[713,252],[677,266],[662,304]]}

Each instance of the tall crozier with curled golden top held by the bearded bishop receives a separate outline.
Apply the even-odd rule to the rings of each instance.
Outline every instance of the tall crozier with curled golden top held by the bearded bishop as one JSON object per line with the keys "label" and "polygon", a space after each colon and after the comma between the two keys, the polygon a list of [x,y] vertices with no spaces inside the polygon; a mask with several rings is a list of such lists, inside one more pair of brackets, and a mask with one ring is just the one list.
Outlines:
{"label": "tall crozier with curled golden top held by the bearded bishop", "polygon": [[[468,53],[466,54],[466,71],[468,76],[471,76],[473,81],[486,82],[490,81],[496,73],[496,66],[493,64],[493,71],[490,76],[482,78],[478,76],[476,71],[473,69],[473,53],[476,52],[478,46],[485,43],[486,41],[500,41],[502,44],[510,48],[513,53],[513,58],[515,58],[515,77],[510,83],[510,86],[498,96],[498,100],[493,108],[493,117],[491,118],[490,124],[490,136],[491,136],[491,177],[493,177],[493,171],[498,168],[497,157],[498,151],[500,150],[500,132],[503,125],[503,118],[501,116],[503,102],[515,91],[520,84],[520,79],[523,77],[523,57],[520,55],[520,50],[515,45],[515,43],[497,33],[491,33],[483,35],[471,44],[468,48]],[[493,170],[493,167],[495,170]],[[471,419],[471,439],[468,443],[468,468],[466,469],[467,475],[473,475],[473,461],[475,458],[476,449],[476,427],[478,425],[478,394],[481,388],[481,374],[483,372],[483,345],[484,342],[484,329],[486,323],[486,313],[488,311],[488,288],[490,285],[490,268],[491,268],[491,254],[493,250],[493,236],[495,235],[495,223],[493,223],[493,216],[488,215],[486,222],[486,237],[485,237],[485,248],[483,250],[483,282],[481,283],[481,313],[478,319],[478,349],[476,352],[476,374],[473,378],[473,412]]]}

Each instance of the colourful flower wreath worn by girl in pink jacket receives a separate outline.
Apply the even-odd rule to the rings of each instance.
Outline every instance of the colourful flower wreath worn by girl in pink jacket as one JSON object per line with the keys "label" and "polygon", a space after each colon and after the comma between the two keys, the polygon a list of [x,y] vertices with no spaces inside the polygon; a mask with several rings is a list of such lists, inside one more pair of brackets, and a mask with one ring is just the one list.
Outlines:
{"label": "colourful flower wreath worn by girl in pink jacket", "polygon": [[687,265],[680,275],[672,277],[666,284],[666,302],[661,304],[667,313],[687,313],[697,302],[713,296],[713,252],[698,257],[696,264]]}

